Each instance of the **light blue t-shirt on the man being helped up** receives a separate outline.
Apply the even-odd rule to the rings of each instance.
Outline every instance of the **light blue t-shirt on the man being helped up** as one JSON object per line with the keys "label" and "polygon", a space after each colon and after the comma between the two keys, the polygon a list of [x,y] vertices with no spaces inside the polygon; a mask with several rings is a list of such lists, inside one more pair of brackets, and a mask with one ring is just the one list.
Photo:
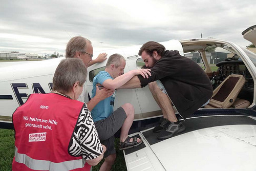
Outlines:
{"label": "light blue t-shirt on the man being helped up", "polygon": [[[93,90],[92,90],[92,97],[96,94],[96,84],[100,83],[103,85],[103,82],[106,79],[114,79],[110,76],[110,74],[106,71],[100,71],[94,78],[93,78]],[[109,117],[113,113],[114,108],[114,101],[115,101],[115,92],[112,96],[101,100],[91,111],[93,121],[99,121],[101,119],[105,119]]]}

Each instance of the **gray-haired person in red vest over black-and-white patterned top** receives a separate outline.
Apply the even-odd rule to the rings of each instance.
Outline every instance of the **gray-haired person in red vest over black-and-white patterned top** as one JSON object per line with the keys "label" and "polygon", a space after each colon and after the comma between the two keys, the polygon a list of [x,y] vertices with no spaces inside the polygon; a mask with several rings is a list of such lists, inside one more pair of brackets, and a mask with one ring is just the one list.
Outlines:
{"label": "gray-haired person in red vest over black-and-white patterned top", "polygon": [[66,58],[53,77],[53,91],[31,94],[12,115],[12,170],[90,170],[106,151],[90,111],[77,101],[86,81],[81,59]]}

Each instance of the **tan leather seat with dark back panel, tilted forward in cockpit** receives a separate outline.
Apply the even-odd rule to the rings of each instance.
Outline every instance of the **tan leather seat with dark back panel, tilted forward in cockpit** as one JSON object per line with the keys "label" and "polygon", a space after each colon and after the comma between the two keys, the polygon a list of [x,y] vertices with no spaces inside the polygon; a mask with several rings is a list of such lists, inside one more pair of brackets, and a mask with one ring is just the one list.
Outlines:
{"label": "tan leather seat with dark back panel, tilted forward in cockpit", "polygon": [[[247,100],[237,96],[245,83],[243,75],[229,75],[213,92],[210,102],[204,108],[246,108],[250,105]],[[235,102],[236,101],[236,102]],[[231,107],[231,108],[232,108]]]}

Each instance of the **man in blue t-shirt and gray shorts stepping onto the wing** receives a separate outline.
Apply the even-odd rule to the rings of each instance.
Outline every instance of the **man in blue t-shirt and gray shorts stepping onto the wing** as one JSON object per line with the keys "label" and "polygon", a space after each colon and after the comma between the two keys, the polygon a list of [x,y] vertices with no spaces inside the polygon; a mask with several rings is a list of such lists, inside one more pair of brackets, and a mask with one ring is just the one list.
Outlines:
{"label": "man in blue t-shirt and gray shorts stepping onto the wing", "polygon": [[[96,90],[102,88],[115,91],[135,75],[142,75],[144,78],[150,74],[150,69],[131,70],[123,74],[125,59],[120,54],[113,54],[106,63],[105,71],[101,71],[93,79],[92,97]],[[148,74],[148,75],[147,75]],[[100,84],[100,88],[97,86]],[[141,144],[139,138],[128,136],[134,119],[134,107],[131,103],[125,103],[116,111],[113,111],[115,92],[112,96],[100,101],[91,111],[96,130],[101,144],[106,146],[104,153],[105,161],[101,165],[102,170],[110,170],[116,159],[114,134],[121,128],[120,148],[126,149]]]}

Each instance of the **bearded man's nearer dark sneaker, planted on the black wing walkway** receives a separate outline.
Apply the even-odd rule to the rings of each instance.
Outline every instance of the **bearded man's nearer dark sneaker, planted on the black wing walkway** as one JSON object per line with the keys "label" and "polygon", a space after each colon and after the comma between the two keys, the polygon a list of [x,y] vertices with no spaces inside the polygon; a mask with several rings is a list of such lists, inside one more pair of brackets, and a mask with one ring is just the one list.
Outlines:
{"label": "bearded man's nearer dark sneaker, planted on the black wing walkway", "polygon": [[177,122],[168,121],[168,126],[165,130],[162,130],[158,135],[158,139],[166,139],[173,137],[174,135],[185,131],[186,127],[179,120]]}

